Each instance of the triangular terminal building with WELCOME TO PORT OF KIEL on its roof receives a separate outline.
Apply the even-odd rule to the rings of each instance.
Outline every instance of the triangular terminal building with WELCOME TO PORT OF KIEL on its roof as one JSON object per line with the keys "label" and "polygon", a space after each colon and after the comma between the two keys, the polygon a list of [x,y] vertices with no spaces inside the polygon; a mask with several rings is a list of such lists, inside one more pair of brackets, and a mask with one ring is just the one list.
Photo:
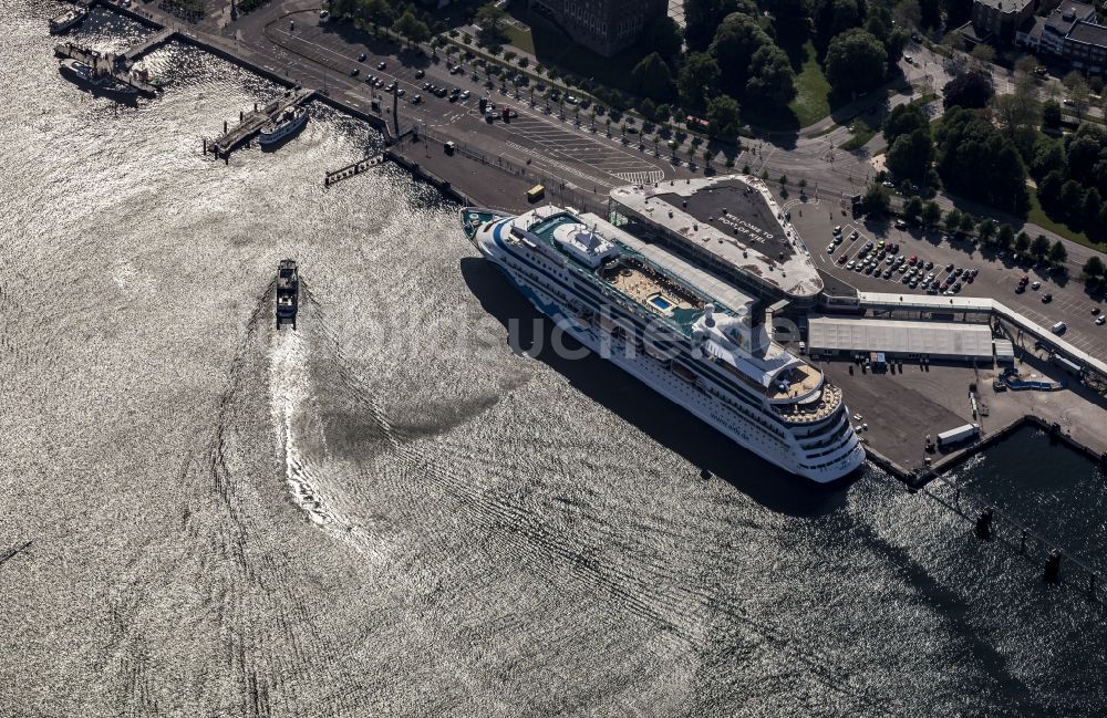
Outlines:
{"label": "triangular terminal building with WELCOME TO PORT OF KIEL on its roof", "polygon": [[630,233],[686,257],[761,300],[789,311],[823,294],[810,252],[761,179],[748,175],[618,187],[609,217]]}

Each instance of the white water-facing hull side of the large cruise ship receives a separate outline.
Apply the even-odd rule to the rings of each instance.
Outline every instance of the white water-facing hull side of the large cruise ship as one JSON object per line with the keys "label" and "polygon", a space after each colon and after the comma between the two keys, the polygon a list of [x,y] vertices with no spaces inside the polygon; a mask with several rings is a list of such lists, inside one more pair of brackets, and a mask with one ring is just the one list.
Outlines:
{"label": "white water-facing hull side of the large cruise ship", "polygon": [[[865,461],[865,449],[849,428],[850,438],[838,447],[834,455],[827,457],[828,460],[823,461],[823,466],[816,468],[804,466],[801,464],[804,455],[798,443],[795,447],[785,445],[778,436],[769,434],[756,422],[731,408],[722,397],[714,396],[714,392],[682,378],[665,362],[652,357],[649,353],[629,347],[623,339],[609,333],[602,326],[582,321],[572,309],[565,305],[563,298],[554,296],[540,283],[523,275],[513,267],[516,262],[506,256],[506,248],[497,240],[492,225],[484,227],[473,240],[480,253],[494,262],[538,311],[550,316],[569,335],[743,448],[792,474],[818,483],[839,480]],[[849,422],[848,409],[845,406],[839,420],[832,427],[828,427],[826,434],[840,431],[841,422]]]}

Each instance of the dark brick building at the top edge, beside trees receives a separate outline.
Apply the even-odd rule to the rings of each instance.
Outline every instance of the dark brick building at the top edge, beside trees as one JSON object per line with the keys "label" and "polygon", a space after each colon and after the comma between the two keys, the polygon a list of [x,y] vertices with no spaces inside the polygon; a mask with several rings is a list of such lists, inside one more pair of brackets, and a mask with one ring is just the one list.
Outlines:
{"label": "dark brick building at the top edge, beside trees", "polygon": [[606,58],[628,48],[668,12],[666,0],[529,0],[529,8]]}

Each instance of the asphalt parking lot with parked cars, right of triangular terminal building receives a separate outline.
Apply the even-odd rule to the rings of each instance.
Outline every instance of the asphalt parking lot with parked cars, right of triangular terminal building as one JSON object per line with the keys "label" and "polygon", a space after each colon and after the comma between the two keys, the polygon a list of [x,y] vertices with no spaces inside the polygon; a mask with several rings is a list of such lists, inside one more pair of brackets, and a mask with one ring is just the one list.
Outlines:
{"label": "asphalt parking lot with parked cars, right of triangular terminal building", "polygon": [[[900,230],[889,225],[853,222],[834,207],[829,209],[830,211],[823,206],[793,206],[792,221],[816,257],[819,269],[835,280],[862,291],[922,294],[927,292],[922,281],[912,289],[910,284],[903,283],[910,269],[907,272],[899,271],[900,267],[911,267],[908,263],[911,257],[917,257],[917,263],[921,262],[924,268],[927,262],[933,263],[932,269],[922,270],[922,279],[933,272],[937,279],[945,281],[949,274],[945,268],[950,264],[962,270],[974,268],[979,270],[979,274],[972,282],[965,281],[964,271],[954,278],[961,281],[961,290],[954,292],[954,295],[995,299],[1046,327],[1055,322],[1065,322],[1068,325],[1066,341],[1090,354],[1107,355],[1107,326],[1096,325],[1096,314],[1093,313],[1094,309],[1107,311],[1107,306],[1088,296],[1084,282],[1079,279],[1054,277],[1045,268],[1016,266],[1010,257],[1001,258],[969,240],[951,240],[944,232],[922,232],[918,228]],[[827,247],[834,238],[836,225],[841,226],[844,240],[834,252],[828,252]],[[850,241],[848,238],[855,230],[858,237]],[[861,249],[870,241],[876,248],[881,240],[886,242],[886,247],[888,242],[898,243],[899,251],[883,254],[879,260],[879,275],[876,270],[871,274],[865,273],[863,269],[858,272]],[[846,262],[838,263],[844,254]],[[879,252],[877,256],[879,257]],[[899,257],[904,258],[903,264],[897,264]],[[892,259],[892,264],[887,263],[889,259]],[[853,268],[847,269],[850,261],[855,262]],[[884,279],[884,271],[893,266],[894,271],[890,278]],[[1017,293],[1020,278],[1024,274],[1028,284],[1025,291]],[[1033,289],[1034,282],[1038,283],[1038,289]],[[1044,301],[1046,294],[1052,296],[1048,302]]]}

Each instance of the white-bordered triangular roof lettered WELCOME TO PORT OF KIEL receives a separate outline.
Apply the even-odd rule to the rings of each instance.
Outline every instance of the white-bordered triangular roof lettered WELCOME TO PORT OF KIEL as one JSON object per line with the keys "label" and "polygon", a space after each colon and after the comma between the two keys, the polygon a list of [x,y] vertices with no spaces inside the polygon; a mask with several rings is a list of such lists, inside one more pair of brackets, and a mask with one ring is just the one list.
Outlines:
{"label": "white-bordered triangular roof lettered WELCOME TO PORT OF KIEL", "polygon": [[[749,187],[761,195],[767,205],[765,215],[772,216],[772,227],[766,226],[765,221],[751,221],[733,202],[731,207],[721,205],[717,212],[710,209],[712,202],[702,202],[710,216],[697,218],[690,215],[682,202],[673,204],[672,198],[662,197],[675,195],[689,198],[710,194],[715,189],[733,190],[734,187]],[[664,227],[692,244],[703,247],[736,270],[753,274],[785,294],[807,298],[816,296],[823,291],[823,278],[819,277],[811,253],[792,222],[784,219],[784,210],[776,204],[768,187],[757,177],[724,175],[617,187],[611,190],[611,198],[629,214]],[[722,194],[720,201],[723,201]],[[764,217],[756,219],[764,220]],[[730,227],[730,231],[713,226],[712,222],[715,221]],[[779,251],[782,249],[785,249],[783,259]]]}

